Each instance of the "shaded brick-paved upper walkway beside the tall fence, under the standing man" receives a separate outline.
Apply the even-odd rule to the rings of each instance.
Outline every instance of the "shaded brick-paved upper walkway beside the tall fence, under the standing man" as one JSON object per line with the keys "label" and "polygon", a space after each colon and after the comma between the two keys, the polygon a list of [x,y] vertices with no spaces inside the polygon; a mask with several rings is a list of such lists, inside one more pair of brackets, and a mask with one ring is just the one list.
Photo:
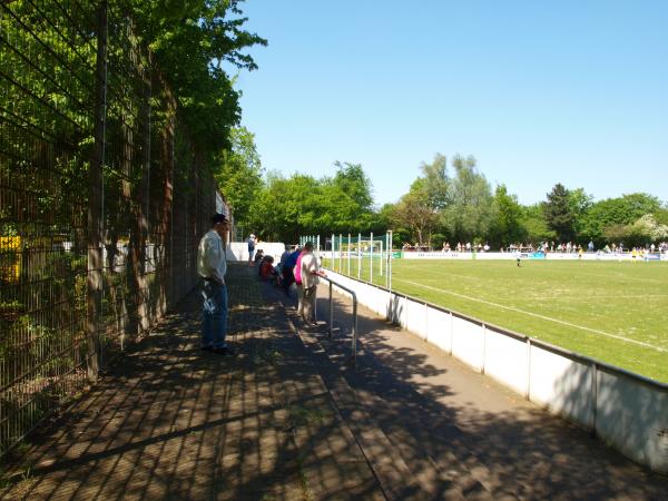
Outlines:
{"label": "shaded brick-paved upper walkway beside the tall fence, under the standing man", "polygon": [[230,266],[236,356],[191,294],[30,440],[2,499],[385,499],[285,311]]}

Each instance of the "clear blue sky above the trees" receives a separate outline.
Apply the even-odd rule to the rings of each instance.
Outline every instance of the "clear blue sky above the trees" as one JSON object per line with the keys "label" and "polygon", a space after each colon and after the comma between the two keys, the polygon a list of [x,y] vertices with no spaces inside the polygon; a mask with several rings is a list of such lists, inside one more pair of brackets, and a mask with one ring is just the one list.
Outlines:
{"label": "clear blue sky above the trees", "polygon": [[[440,153],[522,204],[561,183],[668,202],[668,1],[246,0],[263,167],[361,164],[377,205]],[[452,169],[450,169],[452,174]]]}

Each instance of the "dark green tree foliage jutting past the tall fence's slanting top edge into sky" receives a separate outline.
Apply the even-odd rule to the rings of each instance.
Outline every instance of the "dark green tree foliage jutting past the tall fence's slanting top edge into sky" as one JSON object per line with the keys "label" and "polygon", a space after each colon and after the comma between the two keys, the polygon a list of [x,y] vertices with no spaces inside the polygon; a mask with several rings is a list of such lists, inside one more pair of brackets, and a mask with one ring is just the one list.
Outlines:
{"label": "dark green tree foliage jutting past the tall fence's slanting top edge into sky", "polygon": [[224,66],[254,70],[244,50],[266,40],[243,30],[240,0],[131,0],[138,32],[179,104],[205,159],[229,148],[239,121],[238,91]]}

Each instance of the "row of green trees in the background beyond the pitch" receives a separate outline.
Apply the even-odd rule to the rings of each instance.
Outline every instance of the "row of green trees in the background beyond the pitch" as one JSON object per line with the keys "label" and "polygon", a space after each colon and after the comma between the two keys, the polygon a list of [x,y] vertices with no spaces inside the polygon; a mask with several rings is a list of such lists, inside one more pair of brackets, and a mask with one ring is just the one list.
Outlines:
{"label": "row of green trees in the background beyond the pitch", "polygon": [[421,165],[396,203],[374,206],[372,184],[360,164],[336,163],[320,179],[295,173],[265,173],[248,130],[234,129],[218,181],[244,233],[264,240],[297,242],[298,235],[384,233],[394,245],[441,248],[443,242],[512,244],[554,242],[597,248],[644,246],[668,239],[668,205],[646,193],[595,202],[583,188],[561,184],[533,205],[522,205],[501,184],[492,188],[475,158],[443,155]]}

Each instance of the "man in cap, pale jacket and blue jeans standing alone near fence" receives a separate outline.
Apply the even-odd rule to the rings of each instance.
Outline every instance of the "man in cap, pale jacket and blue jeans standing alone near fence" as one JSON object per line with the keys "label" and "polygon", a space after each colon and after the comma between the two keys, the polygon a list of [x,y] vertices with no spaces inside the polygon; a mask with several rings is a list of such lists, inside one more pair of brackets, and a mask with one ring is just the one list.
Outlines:
{"label": "man in cap, pale jacket and blue jeans standing alone near fence", "polygon": [[224,214],[212,217],[212,229],[199,240],[197,248],[197,273],[204,279],[202,287],[202,350],[218,354],[230,354],[225,343],[227,334],[227,263],[225,238],[229,223]]}

